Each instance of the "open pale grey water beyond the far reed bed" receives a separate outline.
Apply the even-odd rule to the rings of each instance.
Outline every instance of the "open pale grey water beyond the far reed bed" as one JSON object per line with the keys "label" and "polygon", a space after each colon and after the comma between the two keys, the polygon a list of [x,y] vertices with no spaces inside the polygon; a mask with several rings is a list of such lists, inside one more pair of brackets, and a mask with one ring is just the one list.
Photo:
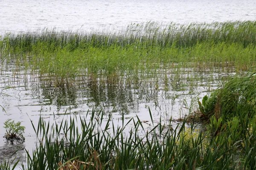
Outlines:
{"label": "open pale grey water beyond the far reed bed", "polygon": [[120,30],[130,23],[255,20],[255,0],[0,0],[0,35],[38,28]]}

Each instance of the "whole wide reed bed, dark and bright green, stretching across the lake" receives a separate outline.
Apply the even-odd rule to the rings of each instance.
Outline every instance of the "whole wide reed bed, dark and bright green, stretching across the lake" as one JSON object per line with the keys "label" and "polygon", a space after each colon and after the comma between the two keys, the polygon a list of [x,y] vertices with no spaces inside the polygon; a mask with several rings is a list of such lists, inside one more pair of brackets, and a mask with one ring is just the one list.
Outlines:
{"label": "whole wide reed bed, dark and bright green, stretching across the lake", "polygon": [[163,68],[246,71],[256,61],[255,25],[246,21],[162,28],[147,23],[119,33],[46,29],[7,34],[0,40],[1,61],[57,83],[78,75],[138,77]]}

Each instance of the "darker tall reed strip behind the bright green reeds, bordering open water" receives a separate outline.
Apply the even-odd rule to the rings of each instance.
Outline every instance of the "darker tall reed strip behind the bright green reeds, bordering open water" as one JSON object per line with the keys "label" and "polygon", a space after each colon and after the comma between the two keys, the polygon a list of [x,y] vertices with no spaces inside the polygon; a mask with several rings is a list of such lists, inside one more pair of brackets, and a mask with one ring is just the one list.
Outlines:
{"label": "darker tall reed strip behind the bright green reeds, bordering open water", "polygon": [[156,23],[131,24],[126,30],[117,33],[108,32],[58,32],[43,31],[20,34],[7,34],[2,38],[2,50],[34,51],[33,46],[43,43],[49,51],[67,47],[69,51],[84,47],[120,47],[130,46],[150,50],[153,47],[168,48],[175,43],[177,47],[191,47],[201,42],[228,44],[239,43],[244,47],[255,44],[256,22],[191,23],[178,25],[170,23],[159,26]]}

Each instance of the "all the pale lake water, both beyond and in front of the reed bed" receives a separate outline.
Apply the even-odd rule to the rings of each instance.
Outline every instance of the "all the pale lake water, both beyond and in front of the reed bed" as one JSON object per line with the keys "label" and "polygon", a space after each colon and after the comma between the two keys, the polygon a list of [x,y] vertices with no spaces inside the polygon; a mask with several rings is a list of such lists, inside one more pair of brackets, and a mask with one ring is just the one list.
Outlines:
{"label": "all the pale lake water, both beyond and in front of the reed bed", "polygon": [[[0,0],[0,5],[0,35],[40,28],[119,31],[131,23],[148,21],[167,25],[256,18],[255,0]],[[7,119],[22,121],[26,126],[24,145],[31,149],[35,146],[35,133],[30,119],[37,122],[41,115],[45,120],[61,121],[67,116],[65,113],[85,114],[93,107],[111,114],[116,122],[122,113],[127,121],[136,115],[150,120],[148,107],[156,122],[160,116],[164,120],[178,119],[187,113],[192,99],[215,89],[226,76],[184,69],[179,75],[172,71],[167,74],[167,89],[157,75],[140,79],[143,83],[112,85],[82,76],[77,78],[76,86],[55,87],[29,71],[15,71],[12,64],[2,66],[0,105],[6,112],[0,110],[0,136],[4,136],[3,122]],[[6,147],[9,145],[3,138],[0,149]]]}

